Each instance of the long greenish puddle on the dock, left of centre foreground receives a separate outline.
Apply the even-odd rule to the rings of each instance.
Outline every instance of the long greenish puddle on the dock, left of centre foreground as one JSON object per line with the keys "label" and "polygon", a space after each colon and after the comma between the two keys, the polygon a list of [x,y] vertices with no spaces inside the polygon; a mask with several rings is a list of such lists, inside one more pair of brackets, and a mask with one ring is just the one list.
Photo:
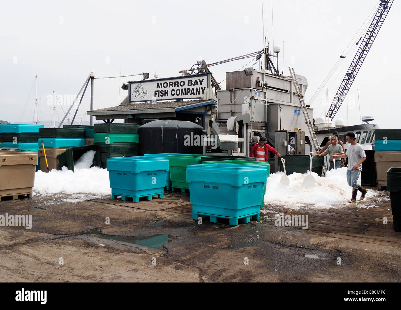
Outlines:
{"label": "long greenish puddle on the dock, left of centre foreground", "polygon": [[97,237],[107,240],[122,241],[126,243],[132,243],[137,245],[143,245],[145,247],[157,248],[161,247],[165,243],[168,243],[168,238],[171,236],[168,234],[160,234],[154,236],[139,236],[139,237],[124,237],[124,236],[113,236],[113,235],[103,235],[99,230],[91,230],[89,232],[83,232],[79,234],[81,236],[87,237]]}

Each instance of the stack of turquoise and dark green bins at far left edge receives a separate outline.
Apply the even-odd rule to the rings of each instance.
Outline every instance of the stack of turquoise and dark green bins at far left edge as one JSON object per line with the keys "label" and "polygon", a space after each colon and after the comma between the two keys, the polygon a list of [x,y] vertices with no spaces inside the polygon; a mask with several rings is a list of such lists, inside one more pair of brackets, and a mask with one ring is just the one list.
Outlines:
{"label": "stack of turquoise and dark green bins at far left edge", "polygon": [[[45,125],[29,124],[2,124],[0,125],[1,149],[14,151],[28,151],[38,154],[39,129]],[[40,169],[40,162],[36,165],[36,171]]]}

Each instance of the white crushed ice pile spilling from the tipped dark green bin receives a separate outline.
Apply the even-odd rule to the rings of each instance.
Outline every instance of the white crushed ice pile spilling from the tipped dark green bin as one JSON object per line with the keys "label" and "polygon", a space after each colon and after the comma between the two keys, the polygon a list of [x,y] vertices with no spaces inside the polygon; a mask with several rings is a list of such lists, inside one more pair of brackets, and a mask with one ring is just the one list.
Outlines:
{"label": "white crushed ice pile spilling from the tipped dark green bin", "polygon": [[[35,173],[34,196],[54,196],[62,194],[71,198],[66,202],[80,202],[87,199],[111,195],[109,172],[99,167],[91,167],[95,151],[83,154],[74,164],[74,171],[63,167],[49,173]],[[90,194],[90,195],[87,195]]]}

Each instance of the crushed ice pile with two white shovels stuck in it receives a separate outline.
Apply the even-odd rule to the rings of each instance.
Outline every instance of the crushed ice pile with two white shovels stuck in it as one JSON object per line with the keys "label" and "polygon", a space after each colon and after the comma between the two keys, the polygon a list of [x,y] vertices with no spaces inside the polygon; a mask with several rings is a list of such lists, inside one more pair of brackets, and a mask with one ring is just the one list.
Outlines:
{"label": "crushed ice pile with two white shovels stuck in it", "polygon": [[[288,175],[290,186],[280,183],[284,172],[271,174],[267,178],[265,204],[291,209],[302,207],[326,209],[347,206],[347,200],[352,196],[352,189],[348,186],[346,171],[347,168],[333,169],[327,172],[326,177],[319,177],[312,172],[315,178],[314,188],[302,186],[305,177],[302,173]],[[360,184],[360,178],[358,184]],[[360,192],[358,192],[358,204],[374,206],[372,202],[369,202],[369,198],[377,195],[380,195],[379,191],[368,190],[365,200],[361,201],[359,200]]]}

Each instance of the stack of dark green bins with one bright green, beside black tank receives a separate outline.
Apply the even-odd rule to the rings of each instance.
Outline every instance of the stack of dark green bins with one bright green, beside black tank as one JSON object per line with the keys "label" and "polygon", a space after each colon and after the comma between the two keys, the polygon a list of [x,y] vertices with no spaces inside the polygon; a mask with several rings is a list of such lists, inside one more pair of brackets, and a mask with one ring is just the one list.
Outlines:
{"label": "stack of dark green bins with one bright green, beside black tank", "polygon": [[100,146],[101,166],[107,159],[138,156],[138,124],[95,124],[93,141]]}

